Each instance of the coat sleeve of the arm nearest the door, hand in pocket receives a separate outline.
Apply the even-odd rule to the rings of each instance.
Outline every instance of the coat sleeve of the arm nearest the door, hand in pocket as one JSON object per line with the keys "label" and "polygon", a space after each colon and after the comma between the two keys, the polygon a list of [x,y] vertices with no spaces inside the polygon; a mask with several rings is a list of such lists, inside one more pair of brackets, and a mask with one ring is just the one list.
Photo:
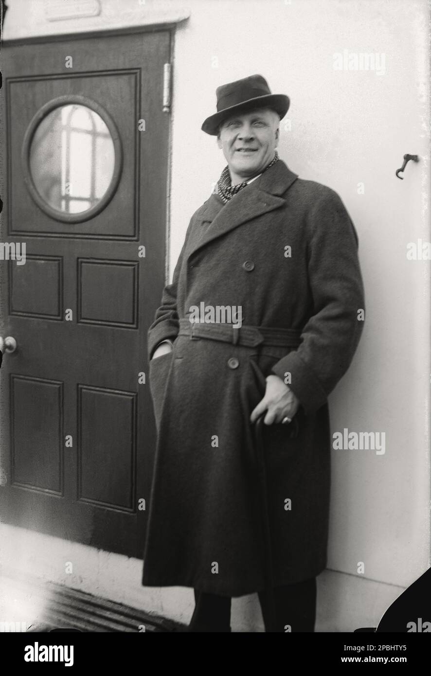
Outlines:
{"label": "coat sleeve of the arm nearest the door, hand in pocket", "polygon": [[189,236],[191,223],[187,229],[183,247],[175,266],[172,283],[164,287],[160,307],[156,310],[154,322],[148,329],[148,358],[151,359],[157,345],[163,340],[175,340],[179,331],[179,316],[177,310],[178,279],[183,265],[185,246]]}

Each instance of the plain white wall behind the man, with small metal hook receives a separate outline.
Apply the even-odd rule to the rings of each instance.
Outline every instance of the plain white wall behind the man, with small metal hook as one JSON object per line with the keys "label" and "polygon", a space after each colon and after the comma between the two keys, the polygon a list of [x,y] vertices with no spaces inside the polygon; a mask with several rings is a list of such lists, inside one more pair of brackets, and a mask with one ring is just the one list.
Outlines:
{"label": "plain white wall behind the man, with small metal hook", "polygon": [[[9,0],[5,37],[148,22],[152,12],[187,14],[175,0],[148,0],[144,7],[103,0],[98,18],[47,24],[42,5]],[[175,38],[169,276],[189,217],[225,166],[215,139],[200,130],[215,110],[215,88],[253,73],[291,98],[281,158],[300,177],[335,189],[359,233],[367,320],[355,360],[330,399],[332,431],[385,432],[386,452],[333,451],[329,567],[339,574],[319,579],[319,627],[351,631],[355,604],[367,619],[362,626],[376,626],[382,604],[430,565],[430,262],[406,258],[408,242],[431,239],[430,9],[426,0],[191,0],[187,7],[190,18]],[[384,74],[335,71],[333,55],[344,49],[384,53]],[[409,163],[401,181],[394,171],[404,153],[417,153],[420,162]],[[28,537],[7,529],[11,541]],[[45,536],[36,541],[53,547]],[[95,553],[75,551],[88,573]],[[43,556],[37,560],[48,575]],[[110,560],[118,581],[111,588],[121,596],[130,564],[115,555]],[[139,562],[134,566],[139,571]],[[54,571],[49,575],[55,578]],[[94,587],[88,575],[74,585]],[[192,608],[181,589],[145,599],[150,610],[160,612],[161,603],[170,617],[183,619]],[[234,616],[239,628],[260,626],[255,598],[235,602]]]}

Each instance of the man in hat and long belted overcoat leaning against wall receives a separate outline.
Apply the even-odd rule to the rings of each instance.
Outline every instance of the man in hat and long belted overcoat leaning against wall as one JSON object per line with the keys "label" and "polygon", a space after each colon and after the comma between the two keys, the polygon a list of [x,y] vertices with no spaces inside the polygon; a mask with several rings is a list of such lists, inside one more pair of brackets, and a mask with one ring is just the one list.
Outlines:
{"label": "man in hat and long belted overcoat leaning against wall", "polygon": [[231,597],[253,592],[267,631],[314,631],[327,397],[365,308],[340,197],[278,158],[289,104],[260,75],[217,88],[202,130],[227,167],[148,334],[158,443],[142,583],[194,588],[189,631],[229,631]]}

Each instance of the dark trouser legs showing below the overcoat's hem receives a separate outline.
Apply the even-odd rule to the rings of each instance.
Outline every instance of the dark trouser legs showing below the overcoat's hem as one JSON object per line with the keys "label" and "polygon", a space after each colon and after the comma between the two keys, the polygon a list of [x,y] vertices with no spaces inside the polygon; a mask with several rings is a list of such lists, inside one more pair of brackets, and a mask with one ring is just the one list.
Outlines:
{"label": "dark trouser legs showing below the overcoat's hem", "polygon": [[[275,631],[314,631],[316,619],[316,578],[275,587]],[[231,598],[195,592],[195,609],[187,631],[229,632]],[[267,594],[259,596],[263,621],[267,617]],[[290,627],[290,629],[289,629]]]}

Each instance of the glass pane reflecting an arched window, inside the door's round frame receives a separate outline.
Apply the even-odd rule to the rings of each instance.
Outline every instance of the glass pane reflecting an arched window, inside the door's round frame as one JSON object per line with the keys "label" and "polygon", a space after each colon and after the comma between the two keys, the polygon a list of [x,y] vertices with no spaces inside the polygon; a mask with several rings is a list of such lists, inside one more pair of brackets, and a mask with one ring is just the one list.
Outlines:
{"label": "glass pane reflecting an arched window, inside the door's round frame", "polygon": [[114,173],[114,143],[108,126],[91,108],[63,105],[37,126],[29,162],[35,188],[49,206],[77,214],[106,193]]}

